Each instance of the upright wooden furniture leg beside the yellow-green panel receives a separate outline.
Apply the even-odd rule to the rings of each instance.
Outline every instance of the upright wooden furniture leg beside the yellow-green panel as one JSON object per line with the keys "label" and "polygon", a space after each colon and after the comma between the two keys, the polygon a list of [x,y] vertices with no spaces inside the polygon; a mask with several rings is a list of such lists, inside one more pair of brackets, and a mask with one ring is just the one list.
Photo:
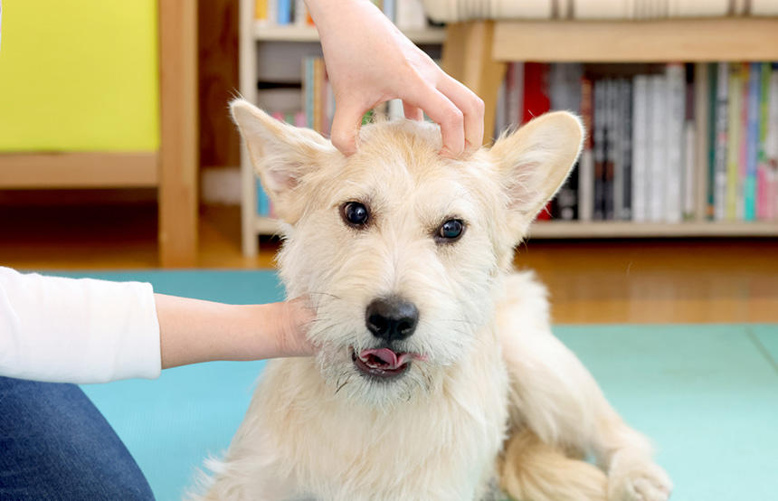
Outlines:
{"label": "upright wooden furniture leg beside the yellow-green panel", "polygon": [[159,260],[197,258],[197,3],[159,0]]}

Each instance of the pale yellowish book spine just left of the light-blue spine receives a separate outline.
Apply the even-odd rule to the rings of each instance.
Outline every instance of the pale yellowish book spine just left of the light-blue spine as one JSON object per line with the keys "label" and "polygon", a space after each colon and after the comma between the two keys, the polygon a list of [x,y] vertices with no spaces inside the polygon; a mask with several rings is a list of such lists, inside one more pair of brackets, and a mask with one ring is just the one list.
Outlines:
{"label": "pale yellowish book spine just left of the light-blue spine", "polygon": [[726,219],[737,219],[737,197],[740,184],[740,143],[743,128],[743,72],[737,64],[732,64],[729,71],[729,95],[727,97],[727,117],[729,123],[726,130]]}

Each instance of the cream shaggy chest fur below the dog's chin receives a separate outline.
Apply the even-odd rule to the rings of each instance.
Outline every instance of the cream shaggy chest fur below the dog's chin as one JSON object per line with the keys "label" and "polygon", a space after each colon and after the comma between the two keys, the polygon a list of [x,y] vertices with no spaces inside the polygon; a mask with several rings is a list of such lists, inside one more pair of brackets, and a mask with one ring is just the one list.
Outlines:
{"label": "cream shaggy chest fur below the dog's chin", "polygon": [[293,496],[488,496],[508,419],[508,382],[494,334],[477,343],[430,392],[386,411],[334,394],[312,360],[273,362],[239,435],[262,430],[255,439],[264,442],[266,468],[289,478]]}

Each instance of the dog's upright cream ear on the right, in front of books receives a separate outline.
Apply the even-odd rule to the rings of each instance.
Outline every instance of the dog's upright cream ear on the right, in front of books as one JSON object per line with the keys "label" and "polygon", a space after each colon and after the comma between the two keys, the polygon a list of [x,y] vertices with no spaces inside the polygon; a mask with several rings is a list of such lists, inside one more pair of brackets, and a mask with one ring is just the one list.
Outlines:
{"label": "dog's upright cream ear on the right, in front of books", "polygon": [[584,127],[566,111],[534,118],[506,137],[489,154],[498,165],[508,194],[509,209],[521,220],[522,231],[554,196],[581,152]]}

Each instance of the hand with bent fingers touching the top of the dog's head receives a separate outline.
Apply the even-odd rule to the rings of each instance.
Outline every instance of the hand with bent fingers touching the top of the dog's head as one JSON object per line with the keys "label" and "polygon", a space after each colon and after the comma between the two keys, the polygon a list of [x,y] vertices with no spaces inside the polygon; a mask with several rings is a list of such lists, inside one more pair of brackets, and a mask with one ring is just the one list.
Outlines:
{"label": "hand with bent fingers touching the top of the dog's head", "polygon": [[484,103],[446,74],[371,2],[307,0],[335,93],[332,144],[356,152],[362,117],[389,99],[403,99],[405,117],[422,111],[441,126],[441,155],[456,157],[483,142]]}

